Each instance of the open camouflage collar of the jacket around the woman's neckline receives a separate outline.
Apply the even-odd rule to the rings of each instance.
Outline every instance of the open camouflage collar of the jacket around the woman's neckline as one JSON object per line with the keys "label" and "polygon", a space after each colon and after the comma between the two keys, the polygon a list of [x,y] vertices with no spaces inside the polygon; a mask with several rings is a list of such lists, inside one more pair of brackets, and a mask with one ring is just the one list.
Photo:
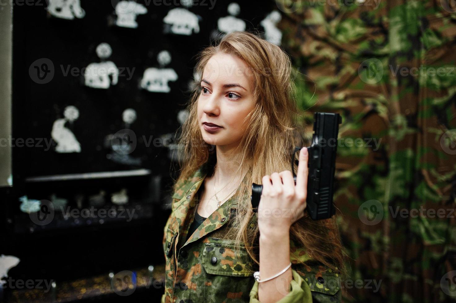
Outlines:
{"label": "open camouflage collar of the jacket around the woman's neckline", "polygon": [[[207,174],[208,167],[206,164],[203,164],[195,172],[195,174],[193,174],[192,177],[188,179],[188,185],[185,185],[185,187],[188,187],[188,190],[184,190],[184,196],[174,205],[174,216],[176,217],[179,231],[178,242],[181,242],[182,239],[187,238],[190,223],[194,217],[193,210],[195,205],[197,205],[196,201],[193,201],[193,198],[201,187]],[[243,182],[246,181],[246,177],[247,175],[244,176]],[[184,243],[183,246],[186,246],[193,241],[197,241],[198,239],[206,236],[208,233],[215,231],[225,225],[230,220],[230,215],[232,214],[231,210],[236,209],[237,207],[237,200],[232,196],[202,222],[197,230],[188,237],[188,240]]]}

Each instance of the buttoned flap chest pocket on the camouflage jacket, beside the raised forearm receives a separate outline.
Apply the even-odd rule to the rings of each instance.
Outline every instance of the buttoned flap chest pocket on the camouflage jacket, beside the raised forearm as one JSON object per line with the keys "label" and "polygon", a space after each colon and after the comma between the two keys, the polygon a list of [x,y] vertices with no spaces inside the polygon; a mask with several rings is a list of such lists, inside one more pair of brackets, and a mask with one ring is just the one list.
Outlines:
{"label": "buttoned flap chest pocket on the camouflage jacket, beside the raised forearm", "polygon": [[204,243],[201,261],[206,272],[204,302],[249,302],[256,263],[245,248],[236,251],[229,240]]}

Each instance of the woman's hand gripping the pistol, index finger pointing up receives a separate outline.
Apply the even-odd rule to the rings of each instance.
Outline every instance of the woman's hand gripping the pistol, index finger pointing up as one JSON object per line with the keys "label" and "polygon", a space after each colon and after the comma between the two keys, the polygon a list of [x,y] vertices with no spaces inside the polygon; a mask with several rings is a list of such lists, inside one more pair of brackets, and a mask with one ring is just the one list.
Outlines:
{"label": "woman's hand gripping the pistol, index finger pointing up", "polygon": [[304,216],[307,203],[307,162],[309,155],[304,147],[299,153],[296,186],[290,170],[265,175],[263,191],[258,205],[259,231],[286,231]]}

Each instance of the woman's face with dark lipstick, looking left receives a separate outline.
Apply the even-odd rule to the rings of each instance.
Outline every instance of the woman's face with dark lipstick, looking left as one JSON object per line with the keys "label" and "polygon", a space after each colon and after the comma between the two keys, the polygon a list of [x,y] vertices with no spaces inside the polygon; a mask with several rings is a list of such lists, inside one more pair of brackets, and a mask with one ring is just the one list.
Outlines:
{"label": "woman's face with dark lipstick, looking left", "polygon": [[207,144],[234,148],[239,143],[248,123],[244,118],[254,108],[252,91],[253,75],[242,59],[223,53],[209,59],[197,106],[198,123]]}

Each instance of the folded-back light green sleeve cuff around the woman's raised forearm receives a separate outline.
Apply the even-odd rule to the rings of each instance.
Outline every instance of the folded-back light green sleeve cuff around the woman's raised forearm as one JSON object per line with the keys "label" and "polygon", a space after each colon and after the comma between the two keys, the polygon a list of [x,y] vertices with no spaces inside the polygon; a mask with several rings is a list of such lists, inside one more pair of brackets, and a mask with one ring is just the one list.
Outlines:
{"label": "folded-back light green sleeve cuff around the woman's raised forearm", "polygon": [[[311,288],[304,279],[291,269],[293,279],[290,282],[290,292],[277,303],[312,303]],[[258,282],[255,281],[250,291],[250,303],[260,303],[258,300]]]}

